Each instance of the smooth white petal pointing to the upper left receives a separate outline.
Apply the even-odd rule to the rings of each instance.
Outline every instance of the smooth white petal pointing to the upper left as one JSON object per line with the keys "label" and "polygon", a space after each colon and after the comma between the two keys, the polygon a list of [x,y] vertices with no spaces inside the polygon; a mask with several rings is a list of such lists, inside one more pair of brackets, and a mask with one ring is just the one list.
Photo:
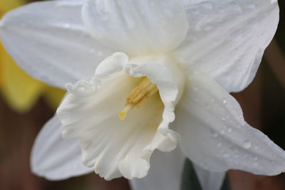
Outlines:
{"label": "smooth white petal pointing to the upper left", "polygon": [[110,48],[99,45],[81,21],[80,0],[46,1],[15,9],[1,20],[6,50],[34,78],[64,88],[90,78]]}

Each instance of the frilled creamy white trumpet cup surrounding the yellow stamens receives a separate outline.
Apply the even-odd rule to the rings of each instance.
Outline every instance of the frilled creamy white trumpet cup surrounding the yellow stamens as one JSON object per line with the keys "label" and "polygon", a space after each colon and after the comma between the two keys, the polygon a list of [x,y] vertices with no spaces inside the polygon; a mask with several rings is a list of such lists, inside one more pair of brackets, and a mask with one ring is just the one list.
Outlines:
{"label": "frilled creamy white trumpet cup surrounding the yellow stamens", "polygon": [[[157,85],[160,95],[148,97],[120,120],[125,98],[142,76]],[[100,63],[92,80],[67,85],[69,93],[58,108],[63,137],[81,139],[84,164],[105,179],[146,176],[152,152],[169,152],[179,139],[168,128],[180,90],[174,77],[180,75],[160,62],[129,61],[115,53]]]}

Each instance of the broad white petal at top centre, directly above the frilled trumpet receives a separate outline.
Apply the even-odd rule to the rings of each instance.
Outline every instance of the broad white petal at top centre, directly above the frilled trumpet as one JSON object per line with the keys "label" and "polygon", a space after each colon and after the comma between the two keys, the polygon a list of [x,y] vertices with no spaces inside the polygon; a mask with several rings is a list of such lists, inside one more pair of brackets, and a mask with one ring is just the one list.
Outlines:
{"label": "broad white petal at top centre, directly above the frilled trumpet", "polygon": [[94,38],[133,54],[171,51],[188,29],[180,0],[88,0],[82,14]]}

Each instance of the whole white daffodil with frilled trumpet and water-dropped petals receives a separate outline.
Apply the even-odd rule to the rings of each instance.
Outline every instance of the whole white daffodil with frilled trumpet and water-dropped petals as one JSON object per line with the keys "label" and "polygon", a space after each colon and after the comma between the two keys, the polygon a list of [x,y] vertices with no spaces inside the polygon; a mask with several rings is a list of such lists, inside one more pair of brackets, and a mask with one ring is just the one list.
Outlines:
{"label": "whole white daffodil with frilled trumpet and water-dropped petals", "polygon": [[[269,0],[66,0],[11,11],[0,23],[7,51],[33,77],[68,89],[36,139],[33,171],[110,180],[150,169],[153,189],[165,179],[178,189],[171,181],[184,157],[215,172],[285,171],[284,151],[229,95],[252,82],[278,14]],[[168,153],[155,152],[152,170],[155,149]],[[168,178],[150,179],[159,175]]]}

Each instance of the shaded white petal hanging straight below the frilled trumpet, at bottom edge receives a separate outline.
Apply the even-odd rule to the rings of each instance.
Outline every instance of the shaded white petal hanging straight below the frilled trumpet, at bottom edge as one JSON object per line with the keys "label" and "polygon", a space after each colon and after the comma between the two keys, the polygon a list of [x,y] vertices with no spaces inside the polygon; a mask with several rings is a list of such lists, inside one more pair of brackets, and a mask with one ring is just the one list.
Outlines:
{"label": "shaded white petal hanging straight below the frilled trumpet, at bottom edge", "polygon": [[156,151],[150,162],[152,167],[145,178],[130,180],[133,190],[180,190],[185,156],[179,148],[166,153]]}

